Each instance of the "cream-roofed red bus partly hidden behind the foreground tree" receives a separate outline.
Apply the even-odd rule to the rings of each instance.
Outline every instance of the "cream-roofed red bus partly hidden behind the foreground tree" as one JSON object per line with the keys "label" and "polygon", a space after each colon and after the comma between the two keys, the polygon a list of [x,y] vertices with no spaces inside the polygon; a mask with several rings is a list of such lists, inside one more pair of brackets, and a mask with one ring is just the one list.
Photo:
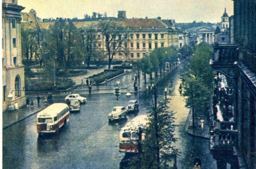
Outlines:
{"label": "cream-roofed red bus partly hidden behind the foreground tree", "polygon": [[[138,132],[139,127],[142,129],[146,127],[149,122],[148,115],[139,115],[128,122],[121,128],[119,134],[119,152],[137,153],[138,152]],[[142,140],[144,133],[142,133]]]}

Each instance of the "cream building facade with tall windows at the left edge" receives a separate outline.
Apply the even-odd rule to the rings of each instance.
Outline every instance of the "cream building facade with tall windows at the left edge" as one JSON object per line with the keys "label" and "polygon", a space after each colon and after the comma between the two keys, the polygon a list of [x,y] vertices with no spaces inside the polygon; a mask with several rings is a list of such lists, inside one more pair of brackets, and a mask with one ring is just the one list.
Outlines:
{"label": "cream building facade with tall windows at the left edge", "polygon": [[24,66],[21,54],[21,11],[17,0],[2,1],[3,111],[25,105]]}

